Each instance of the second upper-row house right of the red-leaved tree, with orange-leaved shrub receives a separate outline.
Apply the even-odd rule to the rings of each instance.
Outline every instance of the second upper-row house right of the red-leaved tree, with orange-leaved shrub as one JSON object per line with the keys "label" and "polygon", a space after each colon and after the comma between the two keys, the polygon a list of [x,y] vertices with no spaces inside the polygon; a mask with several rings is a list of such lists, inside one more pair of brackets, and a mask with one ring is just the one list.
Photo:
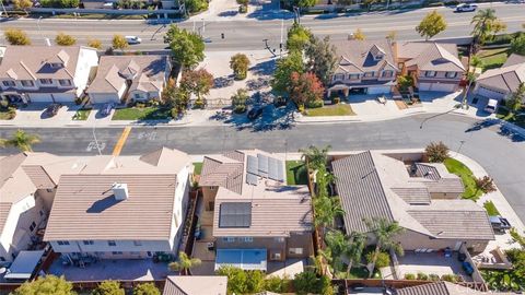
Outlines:
{"label": "second upper-row house right of the red-leaved tree, with orange-leaved shrub", "polygon": [[455,92],[465,73],[455,44],[402,42],[394,45],[401,75],[411,75],[419,91]]}

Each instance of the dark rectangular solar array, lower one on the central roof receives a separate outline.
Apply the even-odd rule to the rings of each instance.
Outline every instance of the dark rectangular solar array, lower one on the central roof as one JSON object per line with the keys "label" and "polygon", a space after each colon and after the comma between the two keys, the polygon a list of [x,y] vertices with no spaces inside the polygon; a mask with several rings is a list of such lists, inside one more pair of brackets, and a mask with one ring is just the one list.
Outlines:
{"label": "dark rectangular solar array, lower one on the central roof", "polygon": [[220,205],[219,227],[249,227],[252,203],[228,202]]}

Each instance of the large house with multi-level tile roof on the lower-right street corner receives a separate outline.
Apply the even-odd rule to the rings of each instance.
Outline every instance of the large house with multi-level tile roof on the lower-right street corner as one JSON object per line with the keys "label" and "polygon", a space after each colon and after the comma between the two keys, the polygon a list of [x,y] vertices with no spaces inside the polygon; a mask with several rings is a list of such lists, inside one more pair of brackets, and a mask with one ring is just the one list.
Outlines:
{"label": "large house with multi-level tile roof on the lower-right street corner", "polygon": [[459,199],[462,180],[443,164],[404,158],[410,156],[368,151],[331,162],[346,232],[369,233],[366,219],[385,219],[406,229],[397,237],[405,250],[458,250],[465,244],[483,251],[494,234],[485,209]]}

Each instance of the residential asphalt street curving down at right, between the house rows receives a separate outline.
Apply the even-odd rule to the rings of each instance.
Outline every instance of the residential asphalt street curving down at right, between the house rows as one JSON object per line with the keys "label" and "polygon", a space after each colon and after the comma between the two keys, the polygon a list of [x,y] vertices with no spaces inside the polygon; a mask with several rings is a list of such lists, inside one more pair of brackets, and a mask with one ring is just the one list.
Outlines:
{"label": "residential asphalt street curving down at right, between the house rows", "polygon": [[[133,127],[121,154],[141,154],[160,146],[179,149],[190,154],[221,153],[233,149],[258,148],[270,152],[296,152],[310,144],[330,144],[332,150],[413,149],[431,141],[443,141],[452,155],[460,152],[480,163],[525,221],[525,139],[505,134],[498,126],[475,119],[444,115],[428,120],[416,116],[378,122],[296,125],[287,129],[254,131],[232,126],[214,127]],[[124,128],[97,128],[94,133],[103,154],[112,154]],[[0,138],[14,129],[0,129]],[[26,129],[37,133],[42,143],[35,151],[60,155],[97,153],[91,128]],[[14,153],[0,150],[0,154]]]}

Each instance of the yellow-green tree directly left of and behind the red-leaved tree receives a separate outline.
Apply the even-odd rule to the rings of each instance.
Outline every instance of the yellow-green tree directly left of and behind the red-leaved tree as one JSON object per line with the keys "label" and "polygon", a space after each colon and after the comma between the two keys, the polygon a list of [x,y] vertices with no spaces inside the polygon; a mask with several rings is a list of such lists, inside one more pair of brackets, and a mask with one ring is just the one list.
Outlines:
{"label": "yellow-green tree directly left of and behind the red-leaved tree", "polygon": [[288,57],[277,61],[277,68],[271,80],[273,91],[279,94],[288,93],[293,72],[304,72],[303,55],[298,51],[293,51]]}

